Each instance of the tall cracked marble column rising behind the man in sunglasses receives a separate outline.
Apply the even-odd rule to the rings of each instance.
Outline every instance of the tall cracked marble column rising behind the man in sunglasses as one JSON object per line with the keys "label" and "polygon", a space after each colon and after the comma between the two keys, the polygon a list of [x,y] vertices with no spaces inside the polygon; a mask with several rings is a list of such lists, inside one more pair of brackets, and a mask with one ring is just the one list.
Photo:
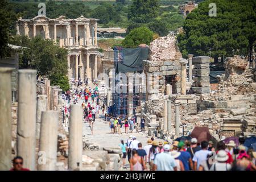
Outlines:
{"label": "tall cracked marble column rising behind the man in sunglasses", "polygon": [[23,167],[35,170],[36,164],[36,70],[19,69],[17,154]]}

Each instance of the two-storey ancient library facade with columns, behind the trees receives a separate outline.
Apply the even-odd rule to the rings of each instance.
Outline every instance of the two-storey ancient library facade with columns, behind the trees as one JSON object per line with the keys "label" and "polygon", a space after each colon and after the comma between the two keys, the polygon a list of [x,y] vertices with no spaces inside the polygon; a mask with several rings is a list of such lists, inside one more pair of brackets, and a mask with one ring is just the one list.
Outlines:
{"label": "two-storey ancient library facade with columns, behind the trees", "polygon": [[46,16],[36,16],[32,19],[19,19],[16,23],[17,34],[29,38],[40,35],[44,39],[51,39],[57,45],[68,49],[69,79],[85,81],[93,80],[98,75],[98,44],[97,20],[80,16],[67,19],[60,16],[49,19]]}

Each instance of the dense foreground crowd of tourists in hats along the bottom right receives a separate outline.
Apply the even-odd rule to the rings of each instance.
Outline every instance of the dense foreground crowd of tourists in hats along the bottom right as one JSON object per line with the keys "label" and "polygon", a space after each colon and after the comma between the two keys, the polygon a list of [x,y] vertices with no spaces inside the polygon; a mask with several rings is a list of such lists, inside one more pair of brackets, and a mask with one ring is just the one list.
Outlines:
{"label": "dense foreground crowd of tourists in hats along the bottom right", "polygon": [[210,140],[197,142],[191,140],[174,140],[171,144],[148,139],[147,145],[132,135],[119,147],[122,150],[122,164],[126,168],[126,156],[131,171],[256,171],[256,151],[243,145],[244,138],[239,139],[236,147],[233,140],[228,144],[219,141],[214,147]]}

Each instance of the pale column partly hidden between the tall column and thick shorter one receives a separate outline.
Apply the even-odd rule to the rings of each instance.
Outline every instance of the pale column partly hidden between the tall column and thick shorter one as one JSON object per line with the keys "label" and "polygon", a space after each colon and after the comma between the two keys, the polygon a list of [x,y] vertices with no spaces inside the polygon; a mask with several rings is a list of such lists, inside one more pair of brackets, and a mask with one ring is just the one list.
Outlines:
{"label": "pale column partly hidden between the tall column and thick shorter one", "polygon": [[47,96],[39,95],[36,102],[36,139],[40,138],[42,111],[47,110]]}

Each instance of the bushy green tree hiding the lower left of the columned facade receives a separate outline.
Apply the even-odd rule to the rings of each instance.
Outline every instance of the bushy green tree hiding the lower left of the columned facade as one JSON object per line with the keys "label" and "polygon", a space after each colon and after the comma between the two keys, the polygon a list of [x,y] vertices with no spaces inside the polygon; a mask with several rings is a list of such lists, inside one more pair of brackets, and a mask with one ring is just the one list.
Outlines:
{"label": "bushy green tree hiding the lower left of the columned facade", "polygon": [[19,68],[36,69],[38,75],[48,77],[52,85],[59,85],[63,90],[69,89],[67,49],[40,36],[28,39],[27,36],[17,35],[12,43],[29,48],[23,49],[19,55]]}

